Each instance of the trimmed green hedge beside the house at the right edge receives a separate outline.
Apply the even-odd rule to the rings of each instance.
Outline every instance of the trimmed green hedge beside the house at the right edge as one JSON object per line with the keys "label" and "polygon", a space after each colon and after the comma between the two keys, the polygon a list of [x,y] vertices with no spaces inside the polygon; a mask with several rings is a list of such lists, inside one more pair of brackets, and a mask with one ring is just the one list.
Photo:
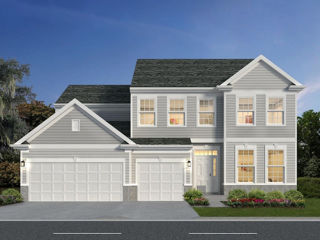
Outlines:
{"label": "trimmed green hedge beside the house at the right edge", "polygon": [[298,177],[296,188],[305,197],[320,197],[320,178]]}

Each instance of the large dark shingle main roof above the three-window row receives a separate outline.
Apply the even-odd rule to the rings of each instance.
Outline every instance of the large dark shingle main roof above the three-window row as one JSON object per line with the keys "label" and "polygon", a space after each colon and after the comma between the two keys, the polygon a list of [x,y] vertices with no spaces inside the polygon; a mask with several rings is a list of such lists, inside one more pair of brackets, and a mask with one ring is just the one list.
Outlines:
{"label": "large dark shingle main roof above the three-window row", "polygon": [[137,59],[131,86],[216,86],[253,59]]}

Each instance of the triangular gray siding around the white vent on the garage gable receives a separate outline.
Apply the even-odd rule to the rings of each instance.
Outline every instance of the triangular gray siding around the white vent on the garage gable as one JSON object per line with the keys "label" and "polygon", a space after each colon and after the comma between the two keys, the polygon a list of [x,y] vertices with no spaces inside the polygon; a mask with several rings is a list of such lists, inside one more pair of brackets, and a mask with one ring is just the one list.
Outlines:
{"label": "triangular gray siding around the white vent on the garage gable", "polygon": [[[71,120],[80,120],[80,131],[71,131]],[[119,143],[89,116],[74,108],[30,143]]]}

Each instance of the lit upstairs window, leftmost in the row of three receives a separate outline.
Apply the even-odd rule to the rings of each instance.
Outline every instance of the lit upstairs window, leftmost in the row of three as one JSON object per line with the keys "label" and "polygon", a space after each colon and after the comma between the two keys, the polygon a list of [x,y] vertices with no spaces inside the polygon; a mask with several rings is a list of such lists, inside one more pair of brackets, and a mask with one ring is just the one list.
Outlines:
{"label": "lit upstairs window, leftmost in the row of three", "polygon": [[140,99],[139,125],[154,126],[155,110],[154,99]]}

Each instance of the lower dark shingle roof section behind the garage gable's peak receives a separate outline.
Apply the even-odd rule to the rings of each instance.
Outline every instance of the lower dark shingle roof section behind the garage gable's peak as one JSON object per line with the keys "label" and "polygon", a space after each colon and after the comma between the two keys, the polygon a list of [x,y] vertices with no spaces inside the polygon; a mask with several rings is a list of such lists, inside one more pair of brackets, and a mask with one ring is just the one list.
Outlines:
{"label": "lower dark shingle roof section behind the garage gable's peak", "polygon": [[130,103],[130,85],[68,85],[55,103]]}

